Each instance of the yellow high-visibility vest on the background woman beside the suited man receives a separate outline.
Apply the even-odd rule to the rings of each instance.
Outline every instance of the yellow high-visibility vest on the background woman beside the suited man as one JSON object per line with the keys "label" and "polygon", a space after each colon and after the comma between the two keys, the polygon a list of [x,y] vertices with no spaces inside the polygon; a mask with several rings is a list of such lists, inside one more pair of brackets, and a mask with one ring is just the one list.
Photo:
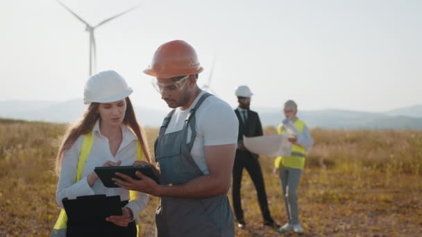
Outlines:
{"label": "yellow high-visibility vest on the background woman beside the suited man", "polygon": [[[300,119],[296,119],[294,121],[294,126],[299,130],[299,132],[303,132],[303,128],[305,128],[305,122],[301,121]],[[280,124],[278,126],[278,134],[285,134],[287,130],[283,128],[283,125]],[[298,168],[303,169],[305,167],[305,154],[306,149],[303,146],[298,144],[292,145],[292,153],[288,157],[276,157],[274,161],[274,165],[276,168],[280,168],[280,165],[289,167],[289,168]]]}

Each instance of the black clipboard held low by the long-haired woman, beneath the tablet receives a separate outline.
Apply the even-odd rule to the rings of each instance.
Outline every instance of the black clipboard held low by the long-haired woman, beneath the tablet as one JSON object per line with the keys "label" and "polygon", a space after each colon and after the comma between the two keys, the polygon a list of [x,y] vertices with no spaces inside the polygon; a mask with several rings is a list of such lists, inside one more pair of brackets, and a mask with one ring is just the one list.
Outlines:
{"label": "black clipboard held low by the long-haired woman, beneath the tablet", "polygon": [[67,219],[71,225],[104,222],[109,216],[121,216],[120,196],[87,195],[76,199],[62,199]]}

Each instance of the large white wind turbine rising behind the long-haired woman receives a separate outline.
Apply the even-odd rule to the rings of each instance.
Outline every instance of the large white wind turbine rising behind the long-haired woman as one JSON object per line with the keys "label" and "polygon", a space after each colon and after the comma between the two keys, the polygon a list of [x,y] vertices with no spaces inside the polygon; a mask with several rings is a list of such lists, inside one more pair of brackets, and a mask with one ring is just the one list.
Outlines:
{"label": "large white wind turbine rising behind the long-haired woman", "polygon": [[83,20],[81,17],[79,17],[78,15],[76,15],[75,12],[73,12],[72,10],[70,10],[67,6],[65,6],[65,4],[63,4],[61,1],[56,0],[61,6],[63,6],[64,8],[66,8],[72,15],[74,15],[76,18],[78,18],[80,21],[83,22],[83,24],[85,24],[86,28],[85,31],[87,31],[88,33],[90,33],[90,74],[88,76],[92,75],[92,72],[96,71],[96,44],[95,44],[95,36],[94,36],[94,30],[107,23],[108,21],[111,21],[112,19],[115,19],[117,17],[120,17],[121,15],[124,15],[127,12],[130,12],[131,10],[134,10],[135,8],[137,8],[139,5],[134,6],[133,8],[130,8],[128,10],[125,10],[124,12],[121,12],[113,17],[107,18],[103,21],[101,21],[99,24],[96,24],[96,26],[91,26],[90,24],[87,23],[87,21]]}

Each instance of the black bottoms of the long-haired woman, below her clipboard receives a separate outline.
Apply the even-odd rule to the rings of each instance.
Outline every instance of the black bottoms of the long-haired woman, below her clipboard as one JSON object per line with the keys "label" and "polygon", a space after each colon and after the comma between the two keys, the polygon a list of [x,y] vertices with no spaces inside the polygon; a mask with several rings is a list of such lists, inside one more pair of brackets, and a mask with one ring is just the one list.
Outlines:
{"label": "black bottoms of the long-haired woman, below her clipboard", "polygon": [[[124,207],[128,201],[121,202]],[[125,236],[135,237],[137,234],[135,221],[130,222],[128,227],[119,227],[107,220],[73,225],[67,222],[67,237],[71,236]]]}

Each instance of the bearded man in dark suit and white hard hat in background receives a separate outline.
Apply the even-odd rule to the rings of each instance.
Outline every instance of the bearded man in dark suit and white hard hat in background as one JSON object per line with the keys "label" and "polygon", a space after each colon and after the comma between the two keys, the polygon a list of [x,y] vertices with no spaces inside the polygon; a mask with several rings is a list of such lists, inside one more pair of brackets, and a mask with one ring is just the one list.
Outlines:
{"label": "bearded man in dark suit and white hard hat in background", "polygon": [[259,155],[256,155],[247,150],[243,145],[243,136],[257,137],[262,136],[262,126],[258,113],[249,109],[251,103],[251,90],[245,86],[239,86],[235,92],[239,107],[235,109],[237,119],[239,119],[239,137],[237,137],[237,150],[235,157],[235,164],[233,166],[233,208],[238,222],[238,227],[243,228],[246,225],[244,214],[242,210],[242,203],[240,198],[240,184],[242,183],[242,171],[246,168],[253,184],[255,185],[258,202],[262,218],[264,218],[264,225],[270,227],[278,227],[268,209],[267,193],[265,192],[264,178],[262,177],[260,162],[258,161]]}

